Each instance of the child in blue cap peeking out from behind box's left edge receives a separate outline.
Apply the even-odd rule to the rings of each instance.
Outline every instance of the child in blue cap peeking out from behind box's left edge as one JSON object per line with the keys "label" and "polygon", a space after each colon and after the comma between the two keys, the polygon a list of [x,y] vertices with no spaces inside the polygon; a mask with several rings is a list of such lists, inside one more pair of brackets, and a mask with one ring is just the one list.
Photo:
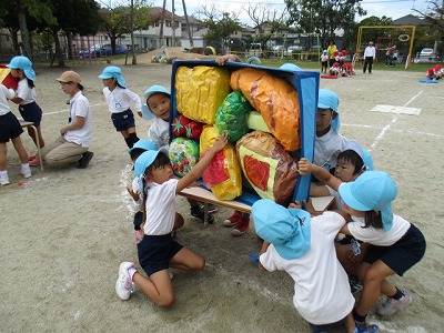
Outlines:
{"label": "child in blue cap peeking out from behind box's left edge", "polygon": [[[148,130],[148,138],[155,142],[159,148],[164,148],[167,151],[170,148],[170,92],[162,85],[151,85],[144,92],[147,104],[142,107],[142,117],[145,120],[153,120]],[[204,211],[198,201],[188,199],[190,203],[191,215],[200,220],[204,220]],[[216,211],[214,205],[210,205],[208,222],[213,223],[214,216],[212,213]]]}

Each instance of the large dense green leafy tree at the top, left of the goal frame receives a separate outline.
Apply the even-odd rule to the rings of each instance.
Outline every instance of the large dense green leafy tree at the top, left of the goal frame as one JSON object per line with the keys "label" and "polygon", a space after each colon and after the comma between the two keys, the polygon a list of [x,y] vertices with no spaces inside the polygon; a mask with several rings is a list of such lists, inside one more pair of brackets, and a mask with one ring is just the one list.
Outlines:
{"label": "large dense green leafy tree at the top, left of the goal frame", "polygon": [[362,0],[285,0],[290,14],[289,24],[306,33],[319,33],[323,44],[334,38],[335,31],[350,30],[355,17],[365,16]]}

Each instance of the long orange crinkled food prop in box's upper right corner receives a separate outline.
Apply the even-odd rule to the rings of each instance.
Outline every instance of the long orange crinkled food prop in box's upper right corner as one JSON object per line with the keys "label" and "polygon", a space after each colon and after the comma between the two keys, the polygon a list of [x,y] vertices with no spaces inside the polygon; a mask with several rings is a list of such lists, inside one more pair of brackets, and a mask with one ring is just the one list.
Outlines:
{"label": "long orange crinkled food prop in box's upper right corner", "polygon": [[233,90],[242,91],[261,112],[270,132],[286,151],[301,148],[299,97],[285,79],[264,70],[243,68],[232,72],[230,84]]}

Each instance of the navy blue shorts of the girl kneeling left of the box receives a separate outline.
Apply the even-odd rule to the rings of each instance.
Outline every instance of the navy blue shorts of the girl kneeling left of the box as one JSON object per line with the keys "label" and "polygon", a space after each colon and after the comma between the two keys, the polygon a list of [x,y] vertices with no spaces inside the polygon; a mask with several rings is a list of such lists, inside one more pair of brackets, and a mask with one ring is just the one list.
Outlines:
{"label": "navy blue shorts of the girl kneeling left of the box", "polygon": [[170,268],[171,259],[183,246],[171,234],[144,235],[138,244],[139,263],[148,276]]}

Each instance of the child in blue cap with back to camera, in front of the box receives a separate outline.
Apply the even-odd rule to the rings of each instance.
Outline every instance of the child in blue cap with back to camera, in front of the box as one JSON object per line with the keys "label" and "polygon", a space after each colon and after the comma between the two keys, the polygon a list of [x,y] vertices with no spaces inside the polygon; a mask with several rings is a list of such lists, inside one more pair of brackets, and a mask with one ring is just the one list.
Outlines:
{"label": "child in blue cap with back to camera, in front of the box", "polygon": [[264,240],[259,268],[285,271],[293,278],[293,303],[311,332],[344,325],[354,332],[355,300],[334,251],[344,218],[335,212],[311,218],[304,210],[286,209],[269,199],[258,200],[251,211],[256,233]]}

